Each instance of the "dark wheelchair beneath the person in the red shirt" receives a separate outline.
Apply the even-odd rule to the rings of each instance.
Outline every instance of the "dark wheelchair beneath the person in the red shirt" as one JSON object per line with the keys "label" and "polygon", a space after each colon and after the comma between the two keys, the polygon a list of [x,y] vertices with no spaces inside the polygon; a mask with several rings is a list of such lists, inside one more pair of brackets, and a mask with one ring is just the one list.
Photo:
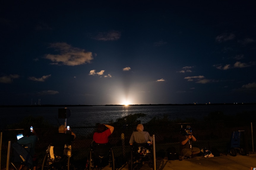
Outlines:
{"label": "dark wheelchair beneath the person in the red shirt", "polygon": [[115,157],[110,143],[99,144],[94,141],[91,143],[91,150],[89,151],[86,168],[100,168],[109,166],[115,170]]}

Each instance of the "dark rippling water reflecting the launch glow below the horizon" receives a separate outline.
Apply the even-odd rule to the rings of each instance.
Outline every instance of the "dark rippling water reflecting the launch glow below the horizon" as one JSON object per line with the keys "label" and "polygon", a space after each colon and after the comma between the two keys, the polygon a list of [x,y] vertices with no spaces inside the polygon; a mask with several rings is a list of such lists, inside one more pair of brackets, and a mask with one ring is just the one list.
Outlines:
{"label": "dark rippling water reflecting the launch glow below the horizon", "polygon": [[[1,108],[1,129],[7,124],[18,122],[26,116],[43,116],[50,124],[64,124],[65,119],[58,119],[58,109],[63,107],[7,107]],[[67,124],[72,127],[94,126],[96,123],[108,123],[129,114],[143,113],[139,118],[146,123],[155,116],[167,115],[169,120],[195,118],[203,120],[211,112],[222,111],[225,115],[235,115],[243,111],[256,111],[256,105],[192,105],[192,106],[79,106],[68,107],[71,116]]]}

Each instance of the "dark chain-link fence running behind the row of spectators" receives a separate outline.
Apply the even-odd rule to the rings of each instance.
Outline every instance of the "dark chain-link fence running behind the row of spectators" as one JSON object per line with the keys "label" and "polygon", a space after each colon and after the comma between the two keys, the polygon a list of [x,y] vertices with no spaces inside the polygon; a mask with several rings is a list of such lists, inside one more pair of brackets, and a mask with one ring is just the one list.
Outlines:
{"label": "dark chain-link fence running behind the row of spectators", "polygon": [[[226,154],[230,147],[231,134],[233,131],[241,131],[240,146],[248,153],[253,152],[253,144],[255,145],[255,126],[251,122],[212,122],[212,123],[183,123],[183,124],[157,124],[144,125],[144,131],[148,131],[150,135],[155,135],[155,147],[157,157],[166,157],[166,149],[174,146],[179,153],[179,137],[181,135],[181,125],[192,127],[192,133],[197,141],[193,142],[193,146],[198,148],[216,149],[219,153]],[[93,133],[97,127],[73,127],[72,131],[76,134],[75,141],[72,142],[72,155],[74,160],[86,160],[91,142],[93,141]],[[132,132],[136,129],[134,126],[115,127],[114,132],[109,137],[115,157],[127,159],[130,152],[129,139]],[[8,141],[16,142],[16,135],[22,133],[23,129],[2,130],[2,150],[1,150],[1,166],[6,166]],[[50,143],[50,137],[58,132],[57,128],[35,129],[39,136],[39,142],[36,145],[38,155],[38,163],[42,162],[45,156],[45,149]],[[253,133],[252,133],[253,132]],[[253,142],[254,141],[254,142]]]}

